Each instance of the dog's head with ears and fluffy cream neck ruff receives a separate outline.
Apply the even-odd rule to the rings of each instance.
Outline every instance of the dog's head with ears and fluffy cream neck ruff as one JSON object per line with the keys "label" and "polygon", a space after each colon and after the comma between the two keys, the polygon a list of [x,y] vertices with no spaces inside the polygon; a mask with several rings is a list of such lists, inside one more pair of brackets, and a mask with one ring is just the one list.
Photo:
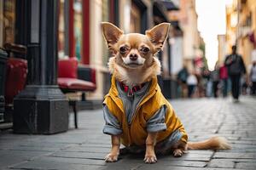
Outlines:
{"label": "dog's head with ears and fluffy cream neck ruff", "polygon": [[160,62],[154,57],[166,42],[170,24],[162,23],[146,31],[124,34],[118,27],[108,22],[102,23],[102,32],[113,57],[108,65],[119,82],[133,86],[148,82],[160,74]]}

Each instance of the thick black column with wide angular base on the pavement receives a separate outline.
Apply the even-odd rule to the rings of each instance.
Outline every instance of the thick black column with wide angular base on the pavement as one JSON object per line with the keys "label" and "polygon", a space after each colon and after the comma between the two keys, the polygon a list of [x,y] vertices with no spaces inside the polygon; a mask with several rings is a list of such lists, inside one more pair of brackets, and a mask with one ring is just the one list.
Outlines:
{"label": "thick black column with wide angular base on the pavement", "polygon": [[[57,85],[57,24],[59,1],[19,0],[26,3],[24,23],[28,77],[14,102],[15,133],[67,131],[68,102]],[[24,15],[26,16],[26,14]],[[20,25],[22,25],[20,23]]]}

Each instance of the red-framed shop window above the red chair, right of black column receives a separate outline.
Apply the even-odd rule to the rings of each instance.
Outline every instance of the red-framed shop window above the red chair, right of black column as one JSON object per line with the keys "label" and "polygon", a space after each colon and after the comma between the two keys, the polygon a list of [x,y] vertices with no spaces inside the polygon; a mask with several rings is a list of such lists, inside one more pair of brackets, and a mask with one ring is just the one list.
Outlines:
{"label": "red-framed shop window above the red chair, right of black column", "polygon": [[58,26],[58,57],[76,57],[82,64],[90,64],[89,21],[90,1],[60,0]]}

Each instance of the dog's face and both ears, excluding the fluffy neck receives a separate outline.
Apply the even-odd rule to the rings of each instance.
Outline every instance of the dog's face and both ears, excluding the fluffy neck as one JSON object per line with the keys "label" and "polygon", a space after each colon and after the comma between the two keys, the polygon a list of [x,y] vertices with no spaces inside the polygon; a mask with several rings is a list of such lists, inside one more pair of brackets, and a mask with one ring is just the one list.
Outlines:
{"label": "dog's face and both ears, excluding the fluffy neck", "polygon": [[118,27],[102,22],[102,32],[109,50],[115,55],[118,65],[127,69],[149,66],[154,54],[163,48],[170,24],[154,26],[146,34],[124,34]]}

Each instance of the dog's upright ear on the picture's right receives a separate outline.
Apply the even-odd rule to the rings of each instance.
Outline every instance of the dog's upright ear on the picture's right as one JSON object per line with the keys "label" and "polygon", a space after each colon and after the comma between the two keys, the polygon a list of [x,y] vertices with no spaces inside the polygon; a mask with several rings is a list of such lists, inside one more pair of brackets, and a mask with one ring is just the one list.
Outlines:
{"label": "dog's upright ear on the picture's right", "polygon": [[157,50],[162,50],[166,37],[168,37],[169,27],[169,23],[161,23],[160,25],[154,26],[151,30],[146,31],[146,36]]}

